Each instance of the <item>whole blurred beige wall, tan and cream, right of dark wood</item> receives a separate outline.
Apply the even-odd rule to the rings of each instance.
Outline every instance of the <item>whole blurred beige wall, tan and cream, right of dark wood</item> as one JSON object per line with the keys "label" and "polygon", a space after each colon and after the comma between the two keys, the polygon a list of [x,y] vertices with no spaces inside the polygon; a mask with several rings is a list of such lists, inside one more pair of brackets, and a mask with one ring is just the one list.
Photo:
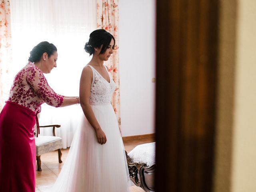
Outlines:
{"label": "whole blurred beige wall, tan and cream, right of dark wood", "polygon": [[256,1],[220,1],[215,192],[256,191]]}

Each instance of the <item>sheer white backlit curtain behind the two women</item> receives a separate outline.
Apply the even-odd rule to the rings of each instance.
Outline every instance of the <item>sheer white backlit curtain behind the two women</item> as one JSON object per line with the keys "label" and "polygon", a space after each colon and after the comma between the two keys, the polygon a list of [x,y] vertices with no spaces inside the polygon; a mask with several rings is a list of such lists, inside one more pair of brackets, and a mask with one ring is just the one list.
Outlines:
{"label": "sheer white backlit curtain behind the two women", "polygon": [[[12,78],[26,65],[32,48],[48,41],[58,49],[57,68],[45,75],[48,83],[58,94],[78,96],[82,68],[90,61],[83,48],[90,32],[96,29],[96,1],[12,0],[11,13]],[[60,124],[56,135],[62,137],[66,148],[81,115],[80,105],[54,108],[43,104],[39,123]],[[50,130],[42,128],[40,134],[48,135]]]}

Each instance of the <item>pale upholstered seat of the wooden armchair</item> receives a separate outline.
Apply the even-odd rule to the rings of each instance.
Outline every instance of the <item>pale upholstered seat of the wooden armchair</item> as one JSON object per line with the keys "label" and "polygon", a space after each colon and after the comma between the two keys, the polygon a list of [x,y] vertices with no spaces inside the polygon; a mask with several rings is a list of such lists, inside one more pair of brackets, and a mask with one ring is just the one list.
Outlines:
{"label": "pale upholstered seat of the wooden armchair", "polygon": [[35,137],[36,156],[62,148],[62,139],[56,136]]}

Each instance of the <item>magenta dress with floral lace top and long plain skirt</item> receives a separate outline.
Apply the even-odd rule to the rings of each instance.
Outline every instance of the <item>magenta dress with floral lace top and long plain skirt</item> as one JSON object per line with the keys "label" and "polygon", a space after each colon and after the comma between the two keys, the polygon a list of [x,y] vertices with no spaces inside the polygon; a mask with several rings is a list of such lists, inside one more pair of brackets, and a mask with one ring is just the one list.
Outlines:
{"label": "magenta dress with floral lace top and long plain skirt", "polygon": [[63,96],[48,85],[42,71],[29,62],[14,78],[0,114],[0,191],[34,192],[36,147],[34,125],[40,106],[59,107]]}

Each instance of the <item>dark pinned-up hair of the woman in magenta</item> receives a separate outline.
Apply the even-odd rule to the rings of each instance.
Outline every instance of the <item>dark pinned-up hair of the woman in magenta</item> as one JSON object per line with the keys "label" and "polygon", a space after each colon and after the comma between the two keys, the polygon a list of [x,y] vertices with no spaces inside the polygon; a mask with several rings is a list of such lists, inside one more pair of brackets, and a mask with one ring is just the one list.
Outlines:
{"label": "dark pinned-up hair of the woman in magenta", "polygon": [[47,53],[48,57],[50,57],[56,51],[57,51],[57,48],[54,44],[49,43],[47,41],[40,42],[39,44],[34,46],[32,51],[30,51],[30,57],[28,58],[28,61],[38,62],[40,61],[43,53]]}

